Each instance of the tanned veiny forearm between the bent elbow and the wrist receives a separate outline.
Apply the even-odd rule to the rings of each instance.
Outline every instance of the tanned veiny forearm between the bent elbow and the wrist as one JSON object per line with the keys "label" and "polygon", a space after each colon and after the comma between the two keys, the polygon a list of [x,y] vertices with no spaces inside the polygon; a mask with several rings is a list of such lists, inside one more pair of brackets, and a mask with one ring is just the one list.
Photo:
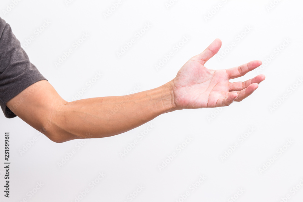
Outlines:
{"label": "tanned veiny forearm between the bent elbow and the wrist", "polygon": [[121,134],[173,111],[171,84],[131,95],[77,100],[57,108],[49,120],[62,137],[99,138]]}

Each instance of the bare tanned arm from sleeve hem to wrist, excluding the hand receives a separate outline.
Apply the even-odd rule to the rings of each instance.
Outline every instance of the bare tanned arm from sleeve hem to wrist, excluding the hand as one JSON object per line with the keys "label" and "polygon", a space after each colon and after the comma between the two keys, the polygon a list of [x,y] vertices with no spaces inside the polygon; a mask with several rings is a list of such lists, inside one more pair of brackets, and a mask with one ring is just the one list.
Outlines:
{"label": "bare tanned arm from sleeve hem to wrist, excluding the hand", "polygon": [[67,102],[45,80],[22,91],[7,106],[55,142],[121,134],[174,109],[169,83],[131,95]]}

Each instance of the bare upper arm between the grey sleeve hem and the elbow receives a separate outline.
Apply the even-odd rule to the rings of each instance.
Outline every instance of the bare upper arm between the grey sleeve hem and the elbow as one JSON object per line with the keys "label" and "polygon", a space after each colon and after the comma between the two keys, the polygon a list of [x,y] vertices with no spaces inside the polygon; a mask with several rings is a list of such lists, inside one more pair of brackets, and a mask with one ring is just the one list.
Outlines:
{"label": "bare upper arm between the grey sleeve hem and the elbow", "polygon": [[52,124],[52,118],[66,103],[48,81],[42,80],[9,100],[6,106],[52,141],[64,142],[75,138],[72,134],[64,134],[65,137],[62,137]]}

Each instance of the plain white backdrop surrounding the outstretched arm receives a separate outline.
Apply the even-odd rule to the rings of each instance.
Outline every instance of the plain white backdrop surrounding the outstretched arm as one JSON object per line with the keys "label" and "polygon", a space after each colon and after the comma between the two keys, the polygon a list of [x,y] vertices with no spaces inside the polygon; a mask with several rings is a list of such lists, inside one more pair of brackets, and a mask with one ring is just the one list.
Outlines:
{"label": "plain white backdrop surrounding the outstretched arm", "polygon": [[[178,0],[167,7],[168,0],[122,0],[105,18],[104,13],[116,2],[32,0],[13,6],[11,0],[2,0],[0,16],[22,45],[30,42],[25,51],[31,62],[67,101],[82,88],[87,91],[80,99],[126,95],[137,90],[136,86],[139,91],[156,88],[173,79],[189,58],[215,38],[223,42],[218,55],[232,42],[235,46],[226,50],[223,59],[213,57],[206,67],[225,69],[260,59],[266,64],[263,69],[238,80],[265,74],[265,81],[250,97],[229,107],[174,111],[124,134],[83,141],[81,147],[79,140],[54,143],[20,118],[2,115],[0,164],[4,162],[3,134],[9,131],[11,169],[7,199],[3,196],[4,169],[0,168],[0,200],[181,202],[187,191],[184,201],[188,202],[234,201],[233,196],[239,202],[302,200],[303,187],[298,184],[303,179],[303,87],[296,83],[301,84],[298,79],[303,75],[302,1],[276,0],[271,5],[269,0]],[[40,28],[45,21],[50,24]],[[151,27],[136,38],[136,32],[147,28],[145,23]],[[37,36],[36,29],[43,31]],[[75,49],[73,44],[83,33],[89,37]],[[35,39],[28,41],[31,36]],[[175,51],[185,36],[190,39]],[[119,58],[117,52],[132,38],[135,43]],[[284,40],[290,42],[283,45]],[[277,51],[280,46],[283,50]],[[69,48],[72,54],[56,67],[55,62]],[[170,51],[173,57],[157,70],[155,65]],[[266,63],[270,55],[273,59]],[[86,83],[96,72],[102,77],[88,88]],[[137,135],[146,133],[148,124],[154,127],[141,140]],[[253,132],[241,142],[238,138],[251,132],[249,127]],[[37,141],[31,145],[34,137]],[[192,141],[178,152],[187,137]],[[120,153],[135,139],[138,144],[122,158]],[[277,152],[288,140],[293,143]],[[228,150],[235,143],[239,146]],[[73,149],[76,153],[58,166]],[[225,151],[230,154],[222,160]],[[167,156],[173,152],[177,156],[169,162]],[[267,162],[274,155],[277,159]],[[160,171],[158,166],[165,160],[168,164]],[[105,174],[102,180],[98,180],[99,173]],[[200,175],[206,178],[202,183],[197,182]],[[94,188],[90,186],[93,180],[98,182]],[[193,191],[190,186],[196,182],[199,186]],[[36,192],[37,183],[43,185]],[[136,193],[138,186],[144,187],[140,193]],[[85,189],[89,192],[82,197]],[[245,191],[237,197],[238,189]]]}

